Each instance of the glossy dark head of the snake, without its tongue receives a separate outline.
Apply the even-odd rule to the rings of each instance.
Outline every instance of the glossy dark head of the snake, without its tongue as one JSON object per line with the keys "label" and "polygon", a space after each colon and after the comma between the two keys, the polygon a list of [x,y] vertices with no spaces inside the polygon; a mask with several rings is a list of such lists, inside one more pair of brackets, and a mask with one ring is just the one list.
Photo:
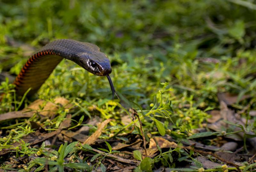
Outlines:
{"label": "glossy dark head of the snake, without its tongue", "polygon": [[106,76],[112,72],[107,55],[101,52],[80,53],[78,54],[77,64],[92,74],[98,76]]}

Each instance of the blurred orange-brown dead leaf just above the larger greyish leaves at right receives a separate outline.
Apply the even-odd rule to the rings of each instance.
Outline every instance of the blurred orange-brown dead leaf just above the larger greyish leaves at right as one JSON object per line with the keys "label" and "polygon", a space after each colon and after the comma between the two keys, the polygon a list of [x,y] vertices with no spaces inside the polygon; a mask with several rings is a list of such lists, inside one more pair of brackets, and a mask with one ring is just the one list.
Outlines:
{"label": "blurred orange-brown dead leaf just above the larger greyish leaves at right", "polygon": [[[238,96],[230,93],[218,93],[218,99],[224,101],[227,105],[235,104],[237,102]],[[250,95],[244,95],[239,101],[250,98]]]}

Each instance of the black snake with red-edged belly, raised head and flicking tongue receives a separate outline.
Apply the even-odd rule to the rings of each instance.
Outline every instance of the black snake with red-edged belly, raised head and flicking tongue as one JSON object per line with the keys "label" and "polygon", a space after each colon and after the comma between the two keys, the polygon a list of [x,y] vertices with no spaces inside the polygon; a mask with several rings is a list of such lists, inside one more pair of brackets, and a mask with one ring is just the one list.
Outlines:
{"label": "black snake with red-edged belly, raised head and flicking tongue", "polygon": [[63,59],[75,62],[94,75],[106,76],[114,99],[115,88],[109,76],[112,68],[107,55],[95,44],[72,39],[54,40],[30,56],[13,82],[16,94],[24,95],[29,88],[27,96],[35,94]]}

